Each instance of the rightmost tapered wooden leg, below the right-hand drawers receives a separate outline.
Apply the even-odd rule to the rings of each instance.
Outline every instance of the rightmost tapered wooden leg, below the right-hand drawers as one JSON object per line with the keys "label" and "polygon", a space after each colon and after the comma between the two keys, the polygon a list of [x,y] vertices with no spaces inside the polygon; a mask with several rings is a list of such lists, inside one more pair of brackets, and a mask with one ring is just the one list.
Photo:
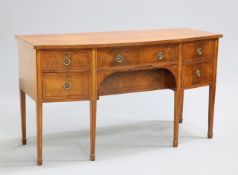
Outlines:
{"label": "rightmost tapered wooden leg, below the right-hand drawers", "polygon": [[215,106],[216,85],[209,86],[209,107],[208,107],[208,133],[209,139],[213,137],[213,121],[214,121],[214,106]]}

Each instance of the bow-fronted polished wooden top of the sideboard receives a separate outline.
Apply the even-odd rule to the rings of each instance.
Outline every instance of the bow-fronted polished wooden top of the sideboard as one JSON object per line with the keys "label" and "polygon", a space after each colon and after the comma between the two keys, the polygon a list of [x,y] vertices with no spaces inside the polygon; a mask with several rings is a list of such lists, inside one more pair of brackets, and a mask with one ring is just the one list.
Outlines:
{"label": "bow-fronted polished wooden top of the sideboard", "polygon": [[220,37],[222,34],[188,28],[16,36],[18,40],[27,42],[35,49],[133,46]]}

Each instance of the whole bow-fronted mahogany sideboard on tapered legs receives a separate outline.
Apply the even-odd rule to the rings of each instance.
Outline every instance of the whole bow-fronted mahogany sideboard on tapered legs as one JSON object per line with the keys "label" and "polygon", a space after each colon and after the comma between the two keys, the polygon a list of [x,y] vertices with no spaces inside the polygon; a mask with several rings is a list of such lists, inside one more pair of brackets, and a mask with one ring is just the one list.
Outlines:
{"label": "whole bow-fronted mahogany sideboard on tapered legs", "polygon": [[90,159],[95,160],[100,96],[171,89],[175,92],[173,146],[177,147],[184,90],[207,85],[208,138],[212,138],[221,37],[186,28],[16,36],[22,144],[26,144],[25,94],[36,101],[37,164],[41,165],[43,103],[90,101]]}

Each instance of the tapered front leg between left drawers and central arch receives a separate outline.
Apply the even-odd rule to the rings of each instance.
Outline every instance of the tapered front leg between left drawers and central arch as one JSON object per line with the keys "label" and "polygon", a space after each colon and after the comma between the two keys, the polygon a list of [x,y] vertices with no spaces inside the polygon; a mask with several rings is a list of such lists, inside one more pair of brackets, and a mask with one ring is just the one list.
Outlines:
{"label": "tapered front leg between left drawers and central arch", "polygon": [[90,160],[95,160],[95,141],[96,141],[96,106],[97,101],[90,101]]}

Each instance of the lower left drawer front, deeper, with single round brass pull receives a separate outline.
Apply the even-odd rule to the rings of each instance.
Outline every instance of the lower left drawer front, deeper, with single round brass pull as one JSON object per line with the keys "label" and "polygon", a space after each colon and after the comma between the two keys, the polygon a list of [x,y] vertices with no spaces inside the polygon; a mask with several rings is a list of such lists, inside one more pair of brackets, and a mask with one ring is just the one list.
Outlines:
{"label": "lower left drawer front, deeper, with single round brass pull", "polygon": [[45,101],[89,99],[89,74],[43,74]]}

